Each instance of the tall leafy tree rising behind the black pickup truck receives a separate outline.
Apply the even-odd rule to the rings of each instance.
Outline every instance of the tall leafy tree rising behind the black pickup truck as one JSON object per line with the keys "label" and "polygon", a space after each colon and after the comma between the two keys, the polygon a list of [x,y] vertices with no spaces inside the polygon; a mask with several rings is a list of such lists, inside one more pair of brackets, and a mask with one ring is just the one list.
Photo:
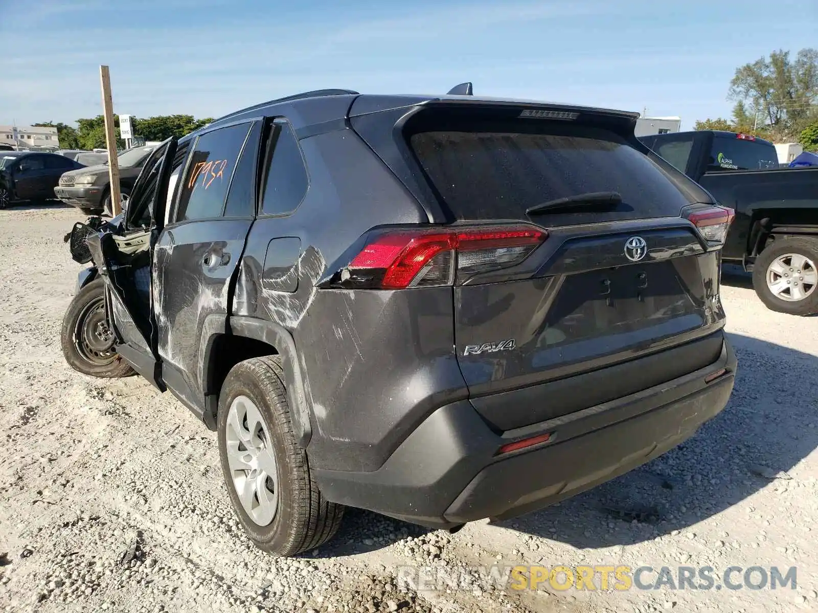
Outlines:
{"label": "tall leafy tree rising behind the black pickup truck", "polygon": [[728,98],[742,105],[736,123],[766,126],[775,138],[798,135],[818,114],[818,50],[802,49],[794,60],[789,51],[773,51],[739,66]]}

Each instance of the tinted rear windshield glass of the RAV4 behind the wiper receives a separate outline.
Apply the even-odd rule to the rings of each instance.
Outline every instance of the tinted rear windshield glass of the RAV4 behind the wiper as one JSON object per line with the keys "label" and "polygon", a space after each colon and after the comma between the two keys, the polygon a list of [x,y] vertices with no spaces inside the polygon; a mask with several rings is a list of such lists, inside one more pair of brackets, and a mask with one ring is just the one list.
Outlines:
{"label": "tinted rear windshield glass of the RAV4 behind the wiper", "polygon": [[[577,124],[515,122],[417,132],[411,149],[456,219],[526,219],[525,209],[587,192],[616,191],[622,204],[606,213],[570,213],[565,223],[676,216],[690,199],[622,136]],[[683,180],[682,180],[683,181]],[[556,214],[537,216],[544,223]]]}

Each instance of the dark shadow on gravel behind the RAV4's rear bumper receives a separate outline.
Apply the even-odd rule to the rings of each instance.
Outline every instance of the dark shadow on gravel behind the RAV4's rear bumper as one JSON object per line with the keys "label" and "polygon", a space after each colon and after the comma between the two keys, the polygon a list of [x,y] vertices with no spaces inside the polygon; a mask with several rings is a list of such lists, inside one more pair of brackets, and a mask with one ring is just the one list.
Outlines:
{"label": "dark shadow on gravel behind the RAV4's rear bumper", "polygon": [[[790,484],[787,471],[818,448],[818,358],[728,336],[739,360],[735,388],[726,409],[696,435],[622,477],[495,525],[577,548],[636,544],[693,526],[762,488]],[[802,383],[794,392],[790,373]]]}

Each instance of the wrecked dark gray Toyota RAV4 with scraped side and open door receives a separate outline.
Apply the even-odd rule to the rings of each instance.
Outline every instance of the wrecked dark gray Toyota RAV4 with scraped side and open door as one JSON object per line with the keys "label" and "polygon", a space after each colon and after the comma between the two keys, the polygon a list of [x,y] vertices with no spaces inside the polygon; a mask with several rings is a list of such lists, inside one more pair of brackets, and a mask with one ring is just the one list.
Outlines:
{"label": "wrecked dark gray Toyota RAV4 with scraped side and open door", "polygon": [[636,114],[325,90],[146,160],[74,227],[74,369],[133,371],[218,431],[249,538],[294,555],[345,506],[455,529],[542,508],[724,408],[732,211]]}

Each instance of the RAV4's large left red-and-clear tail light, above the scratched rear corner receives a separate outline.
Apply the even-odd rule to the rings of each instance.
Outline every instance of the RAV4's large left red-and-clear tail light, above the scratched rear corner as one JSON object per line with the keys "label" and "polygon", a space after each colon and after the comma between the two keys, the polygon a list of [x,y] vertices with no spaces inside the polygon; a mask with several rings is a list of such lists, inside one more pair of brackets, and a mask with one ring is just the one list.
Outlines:
{"label": "RAV4's large left red-and-clear tail light, above the scratched rear corner", "polygon": [[546,237],[533,226],[389,231],[353,257],[340,280],[363,289],[451,285],[458,275],[523,262]]}

